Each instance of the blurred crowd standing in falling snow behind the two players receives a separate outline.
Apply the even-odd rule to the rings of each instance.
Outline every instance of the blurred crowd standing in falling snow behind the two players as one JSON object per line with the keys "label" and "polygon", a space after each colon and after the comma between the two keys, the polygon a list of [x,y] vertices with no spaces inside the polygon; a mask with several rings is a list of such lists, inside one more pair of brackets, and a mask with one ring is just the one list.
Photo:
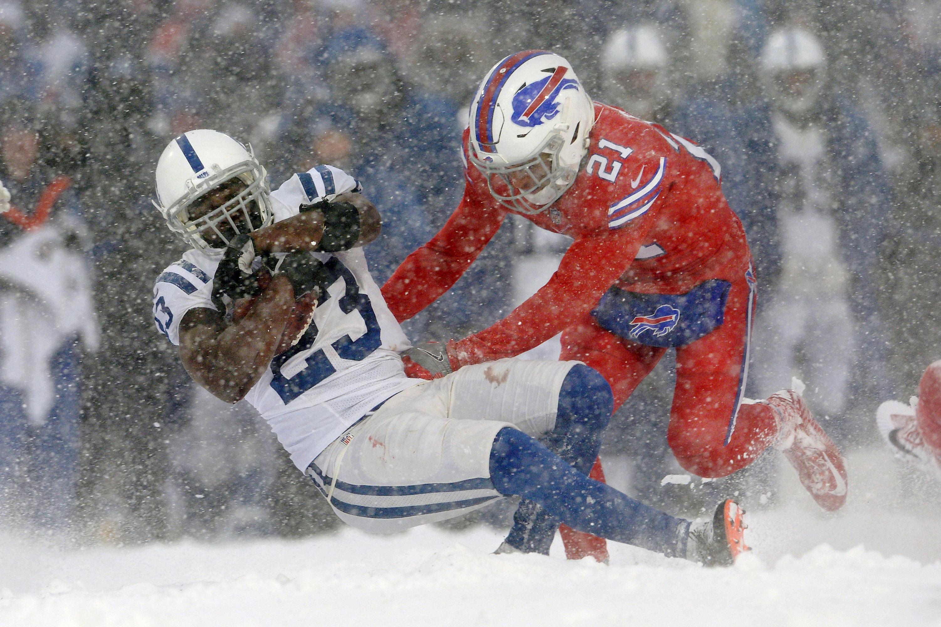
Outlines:
{"label": "blurred crowd standing in falling snow behind the two players", "polygon": [[[213,128],[273,187],[351,171],[384,218],[381,284],[462,194],[475,87],[528,48],[720,162],[758,269],[750,396],[801,376],[839,444],[869,446],[878,402],[941,356],[941,0],[0,0],[4,525],[123,542],[335,526],[254,410],[190,383],[154,331],[153,280],[183,251],[149,200],[156,160]],[[566,245],[507,221],[407,332],[486,327]],[[603,455],[676,510],[671,377],[664,360]]]}

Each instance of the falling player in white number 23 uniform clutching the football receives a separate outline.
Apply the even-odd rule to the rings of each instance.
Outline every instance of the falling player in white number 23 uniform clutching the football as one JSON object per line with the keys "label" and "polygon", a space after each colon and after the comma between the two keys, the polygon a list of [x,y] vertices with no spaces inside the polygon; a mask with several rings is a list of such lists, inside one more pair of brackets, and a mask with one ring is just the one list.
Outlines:
{"label": "falling player in white number 23 uniform clutching the football", "polygon": [[[190,376],[254,405],[344,522],[389,532],[518,494],[547,512],[524,520],[550,531],[710,565],[746,548],[731,500],[691,522],[586,476],[613,407],[592,368],[504,359],[407,378],[410,344],[361,249],[381,223],[359,182],[328,165],[274,192],[265,177],[223,133],[170,142],[154,204],[193,248],[157,277],[153,315]],[[501,550],[548,553],[530,531],[515,525]]]}

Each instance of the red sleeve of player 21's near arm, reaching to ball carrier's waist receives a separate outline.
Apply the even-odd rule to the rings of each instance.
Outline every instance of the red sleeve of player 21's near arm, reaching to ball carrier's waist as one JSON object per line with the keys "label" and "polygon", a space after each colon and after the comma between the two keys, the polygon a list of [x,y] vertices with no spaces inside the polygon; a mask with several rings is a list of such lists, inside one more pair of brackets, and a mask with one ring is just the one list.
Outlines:
{"label": "red sleeve of player 21's near arm, reaching to ball carrier's waist", "polygon": [[652,217],[630,228],[577,239],[546,285],[502,321],[453,342],[449,353],[460,366],[469,366],[524,353],[562,332],[598,305],[628,269],[654,224]]}

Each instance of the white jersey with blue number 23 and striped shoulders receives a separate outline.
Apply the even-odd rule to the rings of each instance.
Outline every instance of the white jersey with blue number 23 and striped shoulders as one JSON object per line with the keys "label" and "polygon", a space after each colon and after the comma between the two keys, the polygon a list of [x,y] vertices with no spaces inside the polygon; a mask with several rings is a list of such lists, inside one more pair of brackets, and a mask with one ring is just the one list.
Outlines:
{"label": "white jersey with blue number 23 and striped shoulders", "polygon": [[[325,167],[295,175],[272,192],[276,222],[321,196],[354,189],[356,181],[341,170],[329,168],[334,176],[322,177]],[[343,177],[352,184],[342,184]],[[336,277],[329,295],[314,311],[304,337],[271,360],[246,396],[301,472],[376,405],[421,383],[406,377],[398,352],[410,344],[369,274],[362,249],[311,255]],[[187,311],[215,309],[212,277],[221,259],[221,250],[192,249],[157,277],[153,317],[174,345],[180,344],[180,321]]]}

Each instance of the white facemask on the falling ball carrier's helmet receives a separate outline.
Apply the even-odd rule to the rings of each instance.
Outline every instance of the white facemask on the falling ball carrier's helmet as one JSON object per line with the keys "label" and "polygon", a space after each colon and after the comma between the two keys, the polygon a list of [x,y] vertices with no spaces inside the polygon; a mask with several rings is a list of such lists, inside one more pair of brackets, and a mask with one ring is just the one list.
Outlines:
{"label": "white facemask on the falling ball carrier's helmet", "polygon": [[[219,207],[191,217],[190,213],[200,199],[235,181],[243,183],[245,188]],[[190,187],[189,183],[187,187]],[[232,165],[190,189],[166,210],[157,203],[154,205],[164,213],[170,230],[179,233],[186,243],[195,248],[222,248],[236,235],[267,227],[274,222],[267,176],[258,162]],[[204,234],[209,236],[208,241],[203,237]]]}

